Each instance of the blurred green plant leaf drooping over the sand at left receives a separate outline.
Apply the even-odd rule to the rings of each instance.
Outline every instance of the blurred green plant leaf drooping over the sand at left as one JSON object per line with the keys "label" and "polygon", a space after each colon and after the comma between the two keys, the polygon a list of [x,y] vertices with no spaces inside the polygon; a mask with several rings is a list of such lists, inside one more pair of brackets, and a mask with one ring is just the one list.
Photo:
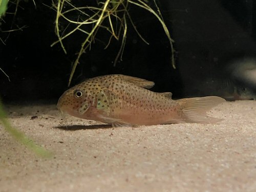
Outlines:
{"label": "blurred green plant leaf drooping over the sand at left", "polygon": [[0,123],[2,123],[4,129],[19,143],[24,144],[30,148],[36,155],[40,157],[51,157],[52,154],[44,147],[37,145],[33,140],[29,139],[24,133],[16,130],[9,122],[7,115],[3,109],[2,101],[0,100]]}

